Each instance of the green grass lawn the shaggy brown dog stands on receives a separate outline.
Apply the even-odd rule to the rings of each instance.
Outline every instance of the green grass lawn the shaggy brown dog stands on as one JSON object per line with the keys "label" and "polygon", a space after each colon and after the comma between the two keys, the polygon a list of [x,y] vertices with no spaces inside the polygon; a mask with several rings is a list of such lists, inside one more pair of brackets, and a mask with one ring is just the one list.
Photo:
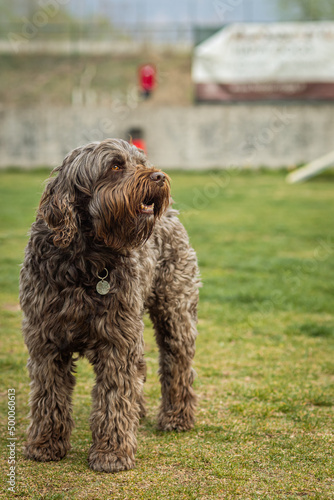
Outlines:
{"label": "green grass lawn the shaggy brown dog stands on", "polygon": [[[334,498],[334,178],[288,186],[281,173],[170,172],[198,253],[203,288],[195,358],[197,423],[158,432],[158,352],[146,319],[148,417],[135,469],[90,471],[91,367],[78,365],[72,450],[26,461],[27,351],[19,264],[46,171],[0,173],[1,498]],[[7,389],[16,391],[16,494],[9,472]]]}

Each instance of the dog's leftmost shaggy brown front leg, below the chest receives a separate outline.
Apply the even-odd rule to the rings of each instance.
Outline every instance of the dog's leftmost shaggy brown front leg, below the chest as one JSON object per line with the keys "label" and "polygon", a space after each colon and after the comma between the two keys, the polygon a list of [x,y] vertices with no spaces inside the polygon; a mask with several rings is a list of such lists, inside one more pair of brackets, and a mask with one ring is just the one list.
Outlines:
{"label": "dog's leftmost shaggy brown front leg, below the chest", "polygon": [[75,377],[70,354],[49,353],[28,360],[31,378],[30,418],[25,445],[27,458],[48,462],[61,460],[70,449],[74,425],[71,395]]}

